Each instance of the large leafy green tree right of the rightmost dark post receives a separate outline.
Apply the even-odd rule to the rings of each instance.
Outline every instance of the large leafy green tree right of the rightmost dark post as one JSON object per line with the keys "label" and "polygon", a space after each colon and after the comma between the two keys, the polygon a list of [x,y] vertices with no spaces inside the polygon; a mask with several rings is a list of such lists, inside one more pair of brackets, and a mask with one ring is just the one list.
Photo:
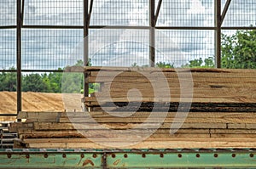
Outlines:
{"label": "large leafy green tree right of the rightmost dark post", "polygon": [[222,67],[256,69],[256,30],[222,35]]}

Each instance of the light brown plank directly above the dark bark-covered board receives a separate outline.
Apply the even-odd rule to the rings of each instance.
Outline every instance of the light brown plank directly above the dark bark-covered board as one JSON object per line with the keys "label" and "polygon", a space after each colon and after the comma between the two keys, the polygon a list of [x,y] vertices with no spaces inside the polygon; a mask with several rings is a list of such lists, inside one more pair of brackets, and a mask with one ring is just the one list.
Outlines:
{"label": "light brown plank directly above the dark bark-covered board", "polygon": [[[138,95],[138,93],[130,93],[131,96],[133,96],[133,98],[160,98],[160,96],[162,98],[167,98],[169,99],[171,96],[171,100],[172,98],[195,98],[195,99],[219,99],[220,101],[218,101],[218,103],[220,103],[221,101],[227,102],[229,103],[229,100],[235,100],[237,103],[255,103],[255,88],[209,88],[207,90],[202,90],[200,88],[196,89],[191,89],[191,91],[185,92],[183,91],[183,96],[181,96],[180,94],[180,89],[172,89],[170,88],[170,94],[168,93],[158,93],[158,95],[154,94],[154,90],[150,90],[147,87],[143,88],[143,89],[138,89],[141,93],[141,95]],[[106,89],[105,91],[96,93],[96,97],[98,99],[104,99],[106,98],[106,96],[109,95],[111,98],[125,98],[127,99],[127,93],[129,90],[125,90],[125,88],[121,89],[121,88],[116,88],[114,90],[108,91],[108,89]],[[166,91],[166,90],[162,90],[162,91]],[[155,91],[157,92],[157,91]],[[132,95],[134,94],[134,95]],[[193,95],[192,95],[193,94]],[[137,97],[134,97],[137,96]],[[234,98],[234,99],[232,99]],[[225,100],[224,100],[225,99]],[[141,99],[139,99],[141,100]],[[169,99],[170,100],[170,99]],[[190,101],[190,100],[189,100]],[[193,101],[193,100],[192,100]],[[209,100],[211,101],[211,100]],[[172,101],[173,102],[173,101]],[[232,101],[234,102],[234,101]]]}

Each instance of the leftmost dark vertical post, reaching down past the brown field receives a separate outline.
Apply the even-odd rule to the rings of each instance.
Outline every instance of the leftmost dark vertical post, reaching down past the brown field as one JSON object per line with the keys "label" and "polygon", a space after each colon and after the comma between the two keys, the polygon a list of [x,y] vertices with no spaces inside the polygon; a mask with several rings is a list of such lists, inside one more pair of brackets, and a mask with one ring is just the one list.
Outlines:
{"label": "leftmost dark vertical post, reaching down past the brown field", "polygon": [[[17,0],[17,30],[16,30],[16,66],[17,66],[17,113],[21,111],[21,0]],[[19,121],[19,120],[18,120]]]}

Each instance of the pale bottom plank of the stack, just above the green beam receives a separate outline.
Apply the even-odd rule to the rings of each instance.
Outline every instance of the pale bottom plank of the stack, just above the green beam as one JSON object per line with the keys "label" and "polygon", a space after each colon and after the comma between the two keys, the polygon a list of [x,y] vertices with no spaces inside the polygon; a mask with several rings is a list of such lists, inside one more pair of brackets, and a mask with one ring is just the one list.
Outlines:
{"label": "pale bottom plank of the stack, just above the green beam", "polygon": [[157,141],[150,142],[144,141],[135,145],[124,145],[119,144],[116,146],[111,143],[105,143],[112,146],[106,146],[102,144],[95,143],[36,143],[36,144],[27,144],[27,148],[48,148],[48,149],[114,149],[114,148],[122,148],[122,149],[197,149],[197,148],[205,148],[205,149],[214,149],[214,148],[252,148],[256,147],[256,139],[252,142],[229,142],[227,141],[212,141],[209,140],[201,140],[201,141]]}

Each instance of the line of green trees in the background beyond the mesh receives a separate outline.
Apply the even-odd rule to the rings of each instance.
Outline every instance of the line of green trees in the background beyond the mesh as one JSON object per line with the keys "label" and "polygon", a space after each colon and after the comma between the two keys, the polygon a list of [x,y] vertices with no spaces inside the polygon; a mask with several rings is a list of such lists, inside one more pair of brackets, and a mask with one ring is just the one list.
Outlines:
{"label": "line of green trees in the background beyond the mesh", "polygon": [[[231,69],[256,69],[256,30],[236,31],[233,35],[222,35],[222,68]],[[79,60],[76,65],[83,65]],[[131,66],[137,66],[134,63]],[[171,63],[159,62],[156,64],[160,68],[172,68]],[[213,68],[215,67],[214,56],[206,59],[193,59],[183,67],[189,68]],[[15,68],[10,68],[15,70]],[[62,70],[61,68],[59,70]],[[62,82],[62,73],[51,72],[44,74],[23,74],[23,92],[61,93],[61,87],[70,93],[82,93],[83,81],[81,74],[65,74],[65,81]],[[0,73],[0,91],[16,91],[16,74],[11,72]],[[62,82],[62,84],[61,84]],[[80,85],[79,88],[77,85]],[[90,93],[98,89],[98,84],[90,84]]]}

